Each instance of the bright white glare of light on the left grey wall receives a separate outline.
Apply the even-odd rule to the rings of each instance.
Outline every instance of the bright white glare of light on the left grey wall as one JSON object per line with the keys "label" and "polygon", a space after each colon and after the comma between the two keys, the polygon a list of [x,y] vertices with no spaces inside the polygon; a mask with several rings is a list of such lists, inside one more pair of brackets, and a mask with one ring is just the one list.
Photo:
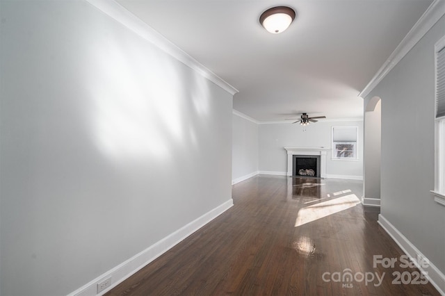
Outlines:
{"label": "bright white glare of light on the left grey wall", "polygon": [[[95,40],[91,48],[106,50],[88,55],[96,65],[88,67],[86,84],[96,106],[91,115],[99,150],[113,160],[165,161],[172,147],[198,149],[197,121],[210,112],[207,81],[182,75],[181,64],[159,50],[110,40]],[[187,92],[190,85],[194,89]]]}

